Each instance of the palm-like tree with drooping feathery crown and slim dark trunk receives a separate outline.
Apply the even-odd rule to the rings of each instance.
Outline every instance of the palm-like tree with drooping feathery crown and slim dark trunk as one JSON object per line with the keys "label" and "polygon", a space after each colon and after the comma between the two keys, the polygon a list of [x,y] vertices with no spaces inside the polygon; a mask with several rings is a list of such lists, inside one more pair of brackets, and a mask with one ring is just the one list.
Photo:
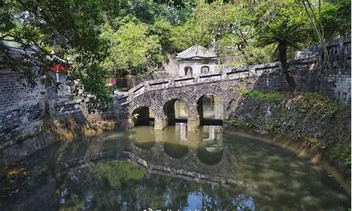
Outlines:
{"label": "palm-like tree with drooping feathery crown and slim dark trunk", "polygon": [[289,84],[289,91],[293,96],[296,96],[296,82],[294,75],[289,70],[289,63],[287,62],[287,49],[299,49],[301,44],[307,40],[307,32],[303,24],[293,24],[287,26],[287,23],[282,23],[275,29],[268,30],[267,34],[259,37],[261,46],[277,45],[275,51],[279,52],[279,61],[282,66],[282,71],[285,74],[287,83]]}

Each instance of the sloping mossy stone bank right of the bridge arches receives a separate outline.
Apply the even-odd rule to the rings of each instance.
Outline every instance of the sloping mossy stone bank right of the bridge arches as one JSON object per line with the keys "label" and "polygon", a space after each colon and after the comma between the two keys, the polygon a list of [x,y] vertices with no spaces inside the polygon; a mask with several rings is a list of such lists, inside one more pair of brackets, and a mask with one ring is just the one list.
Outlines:
{"label": "sloping mossy stone bank right of the bridge arches", "polygon": [[295,140],[298,155],[325,160],[351,184],[351,107],[319,93],[295,98],[277,91],[237,90],[241,97],[227,123]]}

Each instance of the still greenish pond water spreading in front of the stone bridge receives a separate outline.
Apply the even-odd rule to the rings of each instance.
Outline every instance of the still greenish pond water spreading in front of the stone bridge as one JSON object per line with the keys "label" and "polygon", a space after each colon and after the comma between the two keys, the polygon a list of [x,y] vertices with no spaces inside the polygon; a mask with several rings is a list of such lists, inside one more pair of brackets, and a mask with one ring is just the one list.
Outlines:
{"label": "still greenish pond water spreading in front of the stone bridge", "polygon": [[348,210],[320,165],[272,143],[186,123],[56,143],[11,167],[0,210]]}

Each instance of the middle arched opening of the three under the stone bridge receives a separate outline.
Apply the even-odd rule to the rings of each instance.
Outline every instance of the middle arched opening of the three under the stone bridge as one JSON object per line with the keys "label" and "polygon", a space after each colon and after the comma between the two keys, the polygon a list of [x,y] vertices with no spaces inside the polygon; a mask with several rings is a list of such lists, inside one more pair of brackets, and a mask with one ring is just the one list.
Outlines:
{"label": "middle arched opening of the three under the stone bridge", "polygon": [[168,125],[175,125],[175,122],[187,122],[188,107],[186,103],[178,99],[172,99],[165,103],[163,110]]}

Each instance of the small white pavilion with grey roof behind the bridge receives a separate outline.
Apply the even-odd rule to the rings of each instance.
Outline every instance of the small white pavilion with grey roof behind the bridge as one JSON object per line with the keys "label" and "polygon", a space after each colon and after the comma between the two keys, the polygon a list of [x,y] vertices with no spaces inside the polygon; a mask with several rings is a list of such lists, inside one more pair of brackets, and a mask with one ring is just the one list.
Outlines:
{"label": "small white pavilion with grey roof behind the bridge", "polygon": [[215,72],[218,55],[200,45],[194,45],[177,53],[179,77]]}

